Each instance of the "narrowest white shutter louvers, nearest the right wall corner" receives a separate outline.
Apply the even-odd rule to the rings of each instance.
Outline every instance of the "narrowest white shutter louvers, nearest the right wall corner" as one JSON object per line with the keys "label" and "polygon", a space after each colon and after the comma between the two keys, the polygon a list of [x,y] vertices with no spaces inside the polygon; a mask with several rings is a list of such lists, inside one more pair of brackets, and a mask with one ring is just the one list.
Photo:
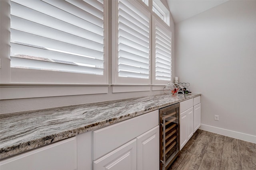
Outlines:
{"label": "narrowest white shutter louvers, nearest the right wall corner", "polygon": [[170,82],[172,76],[172,32],[155,20],[155,79]]}

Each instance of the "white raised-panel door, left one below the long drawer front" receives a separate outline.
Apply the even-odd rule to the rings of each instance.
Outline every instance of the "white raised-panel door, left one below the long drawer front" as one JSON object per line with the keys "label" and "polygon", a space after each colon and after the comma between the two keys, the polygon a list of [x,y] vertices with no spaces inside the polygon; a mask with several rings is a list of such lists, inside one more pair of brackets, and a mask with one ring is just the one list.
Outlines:
{"label": "white raised-panel door, left one below the long drawer front", "polygon": [[93,170],[136,170],[136,139],[93,161]]}

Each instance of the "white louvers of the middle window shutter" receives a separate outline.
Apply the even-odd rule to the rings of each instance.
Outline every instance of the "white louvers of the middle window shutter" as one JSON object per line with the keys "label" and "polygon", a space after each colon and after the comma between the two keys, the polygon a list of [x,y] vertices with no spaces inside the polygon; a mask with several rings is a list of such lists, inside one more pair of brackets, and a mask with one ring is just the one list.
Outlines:
{"label": "white louvers of the middle window shutter", "polygon": [[150,13],[136,1],[118,1],[118,76],[149,80],[149,25]]}

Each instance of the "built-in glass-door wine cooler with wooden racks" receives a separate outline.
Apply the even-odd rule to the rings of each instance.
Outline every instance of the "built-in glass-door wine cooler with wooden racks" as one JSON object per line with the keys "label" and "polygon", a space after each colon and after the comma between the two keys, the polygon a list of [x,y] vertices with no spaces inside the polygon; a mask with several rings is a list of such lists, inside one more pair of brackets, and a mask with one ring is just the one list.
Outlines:
{"label": "built-in glass-door wine cooler with wooden racks", "polygon": [[160,170],[167,170],[180,150],[180,104],[159,109]]}

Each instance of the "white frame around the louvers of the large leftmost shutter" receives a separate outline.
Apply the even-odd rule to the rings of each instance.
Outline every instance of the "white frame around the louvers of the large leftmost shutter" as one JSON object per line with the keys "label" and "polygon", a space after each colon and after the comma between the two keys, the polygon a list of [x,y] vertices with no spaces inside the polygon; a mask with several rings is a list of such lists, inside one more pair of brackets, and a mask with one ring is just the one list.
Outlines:
{"label": "white frame around the louvers of the large leftmost shutter", "polygon": [[[108,84],[108,1],[104,1],[104,71],[103,75],[34,70],[11,67],[10,61],[10,0],[1,0],[1,80],[11,83]],[[4,26],[5,25],[5,26]],[[2,37],[4,36],[4,37]],[[7,38],[8,37],[8,38]],[[5,41],[3,41],[5,40]],[[8,40],[8,41],[7,41]],[[7,48],[8,47],[8,48]],[[5,75],[4,75],[5,73]],[[7,73],[7,74],[6,74]],[[42,82],[43,80],[43,82]]]}

